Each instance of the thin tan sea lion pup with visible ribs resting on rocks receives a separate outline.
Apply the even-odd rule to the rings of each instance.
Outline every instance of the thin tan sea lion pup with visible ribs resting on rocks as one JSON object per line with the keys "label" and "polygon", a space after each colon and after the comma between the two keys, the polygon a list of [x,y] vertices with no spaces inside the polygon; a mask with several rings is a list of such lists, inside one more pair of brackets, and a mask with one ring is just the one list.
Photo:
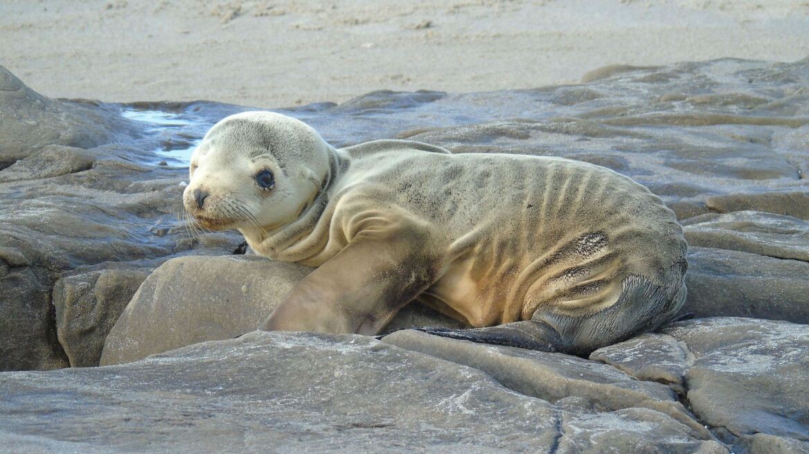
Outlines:
{"label": "thin tan sea lion pup with visible ribs resting on rocks", "polygon": [[328,145],[244,112],[193,153],[184,206],[258,254],[317,267],[261,330],[377,334],[418,299],[481,343],[587,355],[683,304],[674,213],[616,172],[563,158],[449,153],[415,141]]}

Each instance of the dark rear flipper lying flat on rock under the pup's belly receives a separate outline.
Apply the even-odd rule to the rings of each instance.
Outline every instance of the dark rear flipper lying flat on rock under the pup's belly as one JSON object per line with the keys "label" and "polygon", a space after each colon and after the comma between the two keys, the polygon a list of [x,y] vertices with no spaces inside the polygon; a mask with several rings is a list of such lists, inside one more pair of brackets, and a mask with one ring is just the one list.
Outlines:
{"label": "dark rear flipper lying flat on rock under the pup's belly", "polygon": [[444,338],[468,340],[475,343],[489,343],[506,347],[527,348],[540,351],[566,351],[556,330],[544,322],[526,320],[506,323],[500,326],[451,330],[449,328],[414,328],[428,334]]}

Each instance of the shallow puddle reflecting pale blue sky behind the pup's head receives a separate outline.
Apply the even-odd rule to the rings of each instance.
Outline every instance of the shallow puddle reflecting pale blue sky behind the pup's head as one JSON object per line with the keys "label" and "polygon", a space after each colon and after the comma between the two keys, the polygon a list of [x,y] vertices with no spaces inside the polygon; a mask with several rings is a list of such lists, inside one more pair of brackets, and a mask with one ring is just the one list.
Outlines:
{"label": "shallow puddle reflecting pale blue sky behind the pup's head", "polygon": [[204,121],[188,120],[182,114],[166,111],[130,108],[121,111],[121,116],[154,125],[146,128],[146,132],[159,136],[160,146],[154,150],[158,158],[150,160],[150,164],[188,166],[191,154],[210,128],[210,124]]}

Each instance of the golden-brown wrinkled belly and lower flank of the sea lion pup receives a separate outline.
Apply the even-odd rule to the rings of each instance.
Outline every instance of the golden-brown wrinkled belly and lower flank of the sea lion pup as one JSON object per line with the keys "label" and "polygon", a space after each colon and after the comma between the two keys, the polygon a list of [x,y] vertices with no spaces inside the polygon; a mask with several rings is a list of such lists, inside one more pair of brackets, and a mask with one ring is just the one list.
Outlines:
{"label": "golden-brown wrinkled belly and lower flank of the sea lion pup", "polygon": [[449,263],[419,299],[477,327],[527,320],[537,309],[581,317],[613,305],[621,281],[637,270],[630,265],[637,254],[610,246],[601,232],[569,232],[540,248],[520,246],[484,241],[477,254]]}

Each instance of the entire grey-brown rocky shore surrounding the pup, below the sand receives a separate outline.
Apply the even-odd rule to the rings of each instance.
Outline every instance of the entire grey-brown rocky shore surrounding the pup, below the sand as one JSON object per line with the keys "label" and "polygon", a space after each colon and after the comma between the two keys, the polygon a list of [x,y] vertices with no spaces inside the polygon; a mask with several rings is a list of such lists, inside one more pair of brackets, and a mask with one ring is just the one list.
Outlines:
{"label": "entire grey-brown rocky shore surrounding the pup, below the sand", "polygon": [[[108,363],[225,339],[2,373],[0,439],[26,452],[807,452],[809,60],[613,67],[586,82],[279,111],[336,146],[399,137],[627,174],[684,225],[684,312],[733,318],[590,359],[412,331],[231,339],[306,273],[234,259],[238,234],[180,216],[184,156],[252,108],[47,99],[0,67],[0,370],[94,366],[105,339]],[[418,308],[397,320],[449,323]]]}

